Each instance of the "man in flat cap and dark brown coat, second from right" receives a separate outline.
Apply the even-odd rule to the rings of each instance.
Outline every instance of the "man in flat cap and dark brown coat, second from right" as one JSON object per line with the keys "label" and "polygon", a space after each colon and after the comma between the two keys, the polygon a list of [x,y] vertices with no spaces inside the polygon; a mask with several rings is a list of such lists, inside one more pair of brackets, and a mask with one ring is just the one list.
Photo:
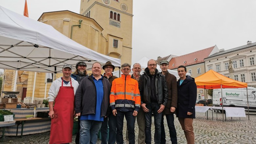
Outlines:
{"label": "man in flat cap and dark brown coat, second from right", "polygon": [[[161,61],[160,68],[162,70],[161,74],[164,75],[167,87],[168,87],[168,101],[167,105],[163,110],[163,114],[166,117],[167,125],[169,128],[170,138],[172,144],[177,144],[177,134],[174,127],[174,112],[177,107],[177,99],[178,99],[178,92],[177,92],[177,78],[168,72],[168,61]],[[161,121],[161,144],[165,144],[165,131],[164,131],[164,124],[163,124],[163,115]]]}

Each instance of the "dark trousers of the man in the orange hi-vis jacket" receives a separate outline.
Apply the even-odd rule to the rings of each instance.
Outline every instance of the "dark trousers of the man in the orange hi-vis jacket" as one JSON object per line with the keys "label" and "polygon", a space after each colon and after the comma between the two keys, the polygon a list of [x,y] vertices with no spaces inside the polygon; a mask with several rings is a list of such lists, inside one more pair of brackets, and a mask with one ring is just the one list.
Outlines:
{"label": "dark trousers of the man in the orange hi-vis jacket", "polygon": [[135,117],[133,116],[133,111],[121,112],[117,111],[117,144],[123,144],[123,119],[127,121],[128,128],[128,138],[129,144],[135,144]]}

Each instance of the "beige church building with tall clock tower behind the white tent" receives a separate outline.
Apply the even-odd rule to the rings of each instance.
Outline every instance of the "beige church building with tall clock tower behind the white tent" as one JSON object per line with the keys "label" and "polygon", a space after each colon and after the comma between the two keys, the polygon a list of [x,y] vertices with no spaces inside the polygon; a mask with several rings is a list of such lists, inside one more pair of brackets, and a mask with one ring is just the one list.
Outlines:
{"label": "beige church building with tall clock tower behind the white tent", "polygon": [[[43,13],[38,21],[53,26],[63,35],[94,51],[132,61],[133,0],[81,0],[80,14],[64,10]],[[118,68],[116,68],[117,70]],[[90,72],[89,72],[90,73]],[[32,97],[34,72],[5,70],[3,91],[19,91],[18,98]],[[62,74],[57,74],[56,78]],[[53,79],[54,80],[54,79]],[[45,96],[45,73],[36,73],[34,97]],[[50,85],[48,79],[46,97]]]}

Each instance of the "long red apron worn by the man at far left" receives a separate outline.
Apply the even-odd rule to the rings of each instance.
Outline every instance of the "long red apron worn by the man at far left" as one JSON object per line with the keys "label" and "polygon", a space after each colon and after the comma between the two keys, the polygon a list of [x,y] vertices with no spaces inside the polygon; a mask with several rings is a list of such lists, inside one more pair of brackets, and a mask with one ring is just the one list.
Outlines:
{"label": "long red apron worn by the man at far left", "polygon": [[72,142],[74,124],[74,87],[63,86],[63,79],[53,107],[54,118],[51,124],[50,144]]}

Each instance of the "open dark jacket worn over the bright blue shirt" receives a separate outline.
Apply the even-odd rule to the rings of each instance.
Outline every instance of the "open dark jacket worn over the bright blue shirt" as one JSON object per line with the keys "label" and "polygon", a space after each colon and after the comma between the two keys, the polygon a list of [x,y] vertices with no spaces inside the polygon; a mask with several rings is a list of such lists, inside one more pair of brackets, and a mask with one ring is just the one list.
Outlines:
{"label": "open dark jacket worn over the bright blue shirt", "polygon": [[[103,77],[103,100],[101,104],[101,117],[106,116],[109,107],[110,83]],[[79,84],[75,93],[75,113],[81,115],[95,114],[96,87],[92,75],[86,76]]]}

